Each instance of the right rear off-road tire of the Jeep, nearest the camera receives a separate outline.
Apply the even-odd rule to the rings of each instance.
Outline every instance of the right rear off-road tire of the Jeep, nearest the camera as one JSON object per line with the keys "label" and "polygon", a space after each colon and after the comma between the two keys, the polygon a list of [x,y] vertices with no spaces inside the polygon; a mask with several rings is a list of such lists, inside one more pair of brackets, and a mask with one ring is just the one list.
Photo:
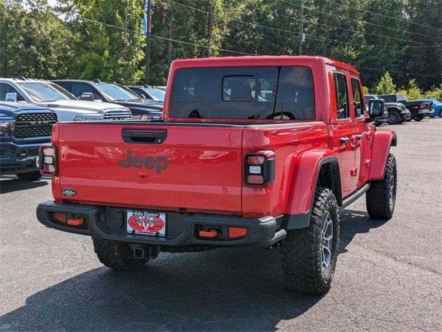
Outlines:
{"label": "right rear off-road tire of the Jeep, nearest the camera", "polygon": [[[332,217],[332,255],[329,266],[323,269],[321,236],[327,212]],[[285,286],[289,290],[312,295],[329,290],[338,257],[339,234],[336,197],[332,190],[317,187],[309,226],[300,230],[287,230],[287,237],[282,241],[282,271]]]}

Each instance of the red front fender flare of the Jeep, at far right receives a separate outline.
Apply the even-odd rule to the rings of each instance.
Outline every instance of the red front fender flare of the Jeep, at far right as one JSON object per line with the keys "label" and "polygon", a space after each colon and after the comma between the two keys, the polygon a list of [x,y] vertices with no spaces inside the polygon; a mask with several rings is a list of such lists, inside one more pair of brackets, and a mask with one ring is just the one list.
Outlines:
{"label": "red front fender flare of the Jeep, at far right", "polygon": [[385,174],[390,147],[396,147],[398,138],[392,130],[376,130],[372,140],[372,162],[370,163],[368,181],[380,181]]}

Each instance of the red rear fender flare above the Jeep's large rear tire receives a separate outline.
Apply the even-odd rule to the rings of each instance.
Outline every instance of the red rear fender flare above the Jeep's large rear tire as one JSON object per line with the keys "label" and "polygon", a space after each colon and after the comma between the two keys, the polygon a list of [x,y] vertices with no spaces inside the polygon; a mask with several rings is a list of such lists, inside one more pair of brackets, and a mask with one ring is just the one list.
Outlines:
{"label": "red rear fender flare above the Jeep's large rear tire", "polygon": [[294,174],[290,183],[290,194],[285,208],[282,228],[296,230],[306,228],[310,223],[311,209],[320,169],[330,164],[338,176],[334,193],[338,205],[342,205],[342,183],[338,157],[330,149],[311,149],[294,156]]}

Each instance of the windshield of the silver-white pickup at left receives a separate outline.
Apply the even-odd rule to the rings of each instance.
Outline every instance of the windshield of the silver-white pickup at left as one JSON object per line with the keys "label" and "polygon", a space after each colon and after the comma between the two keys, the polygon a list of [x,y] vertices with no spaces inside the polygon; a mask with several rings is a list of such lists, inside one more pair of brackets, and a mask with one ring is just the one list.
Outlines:
{"label": "windshield of the silver-white pickup at left", "polygon": [[77,100],[73,94],[61,86],[49,82],[17,83],[34,102],[55,102],[57,100]]}

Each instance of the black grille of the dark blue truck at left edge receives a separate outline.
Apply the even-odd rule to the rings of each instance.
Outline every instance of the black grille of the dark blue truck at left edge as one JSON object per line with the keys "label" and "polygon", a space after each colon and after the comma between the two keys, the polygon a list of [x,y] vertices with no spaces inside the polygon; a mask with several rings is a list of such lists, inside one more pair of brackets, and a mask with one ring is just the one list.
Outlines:
{"label": "black grille of the dark blue truck at left edge", "polygon": [[15,120],[14,136],[17,138],[50,136],[57,122],[55,113],[26,113]]}

